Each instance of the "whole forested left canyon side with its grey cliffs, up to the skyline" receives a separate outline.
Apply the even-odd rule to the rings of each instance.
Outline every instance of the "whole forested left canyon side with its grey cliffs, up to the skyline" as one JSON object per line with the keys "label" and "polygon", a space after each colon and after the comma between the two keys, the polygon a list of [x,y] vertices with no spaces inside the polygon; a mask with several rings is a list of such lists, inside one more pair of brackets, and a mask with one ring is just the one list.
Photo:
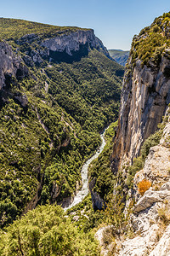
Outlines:
{"label": "whole forested left canyon side with its grey cliffs, up to the skyline", "polygon": [[1,18],[0,37],[4,226],[37,203],[72,200],[99,131],[117,117],[124,71],[91,29]]}

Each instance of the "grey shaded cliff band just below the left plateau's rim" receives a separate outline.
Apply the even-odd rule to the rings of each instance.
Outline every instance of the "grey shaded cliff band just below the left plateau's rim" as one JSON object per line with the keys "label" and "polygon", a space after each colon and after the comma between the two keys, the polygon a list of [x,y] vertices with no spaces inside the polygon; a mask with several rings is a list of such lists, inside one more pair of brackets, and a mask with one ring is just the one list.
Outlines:
{"label": "grey shaded cliff band just below the left plateau's rim", "polygon": [[57,61],[62,61],[63,58],[74,61],[75,58],[77,59],[78,57],[81,58],[83,55],[88,55],[89,48],[98,49],[111,59],[101,40],[95,37],[93,29],[80,29],[77,30],[77,32],[47,38],[41,45],[48,49],[48,56]]}

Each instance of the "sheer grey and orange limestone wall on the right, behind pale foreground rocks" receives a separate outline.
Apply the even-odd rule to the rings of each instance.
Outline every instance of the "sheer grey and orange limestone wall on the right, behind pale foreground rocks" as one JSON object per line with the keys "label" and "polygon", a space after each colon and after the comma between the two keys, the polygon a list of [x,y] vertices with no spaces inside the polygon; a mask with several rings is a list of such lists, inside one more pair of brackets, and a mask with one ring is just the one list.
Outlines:
{"label": "sheer grey and orange limestone wall on the right, behind pale foreground rocks", "polygon": [[[153,26],[157,25],[151,25],[150,32]],[[122,86],[119,123],[112,154],[112,168],[115,171],[122,163],[132,164],[133,158],[139,156],[142,143],[156,131],[170,102],[168,44],[160,42],[159,47],[153,46],[152,55],[148,51],[140,55],[143,48],[150,48],[150,40],[154,41],[156,37],[162,40],[161,27],[159,29],[155,38],[150,38],[151,33],[146,30],[133,39]]]}

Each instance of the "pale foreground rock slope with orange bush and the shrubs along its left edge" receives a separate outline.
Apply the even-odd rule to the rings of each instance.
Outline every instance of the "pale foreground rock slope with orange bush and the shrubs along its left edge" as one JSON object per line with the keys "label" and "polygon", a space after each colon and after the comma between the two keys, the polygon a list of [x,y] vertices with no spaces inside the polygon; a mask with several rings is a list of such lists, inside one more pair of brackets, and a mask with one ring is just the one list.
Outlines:
{"label": "pale foreground rock slope with orange bush and the shrubs along its left edge", "polygon": [[[158,132],[161,132],[159,139]],[[131,166],[134,177],[133,185],[128,189],[126,207],[117,201],[122,190],[121,195],[112,195],[109,210],[106,210],[110,225],[100,228],[96,233],[105,255],[169,255],[169,108],[160,129],[144,142],[142,152],[143,158],[144,152],[147,154],[144,165],[137,166],[136,161]],[[117,212],[120,212],[119,216]]]}

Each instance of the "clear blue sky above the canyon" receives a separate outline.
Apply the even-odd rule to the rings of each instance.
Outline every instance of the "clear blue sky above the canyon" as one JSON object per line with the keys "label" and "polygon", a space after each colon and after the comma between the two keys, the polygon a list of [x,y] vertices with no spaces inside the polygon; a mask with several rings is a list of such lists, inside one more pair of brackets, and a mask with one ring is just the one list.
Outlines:
{"label": "clear blue sky above the canyon", "polygon": [[0,17],[93,28],[108,49],[130,49],[133,35],[168,11],[169,0],[6,0]]}

